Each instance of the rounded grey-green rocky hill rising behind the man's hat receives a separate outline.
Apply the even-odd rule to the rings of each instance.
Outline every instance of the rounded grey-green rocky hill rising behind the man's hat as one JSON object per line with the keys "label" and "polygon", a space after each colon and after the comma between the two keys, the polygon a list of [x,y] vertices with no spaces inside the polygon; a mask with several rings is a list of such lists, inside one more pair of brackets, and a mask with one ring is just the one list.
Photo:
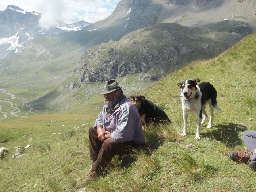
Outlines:
{"label": "rounded grey-green rocky hill rising behind the man's hat", "polygon": [[146,27],[120,41],[85,51],[74,75],[81,84],[104,82],[130,73],[145,73],[146,78],[156,81],[195,59],[217,55],[242,38],[239,34],[223,32],[226,40],[215,41],[213,33],[170,23]]}

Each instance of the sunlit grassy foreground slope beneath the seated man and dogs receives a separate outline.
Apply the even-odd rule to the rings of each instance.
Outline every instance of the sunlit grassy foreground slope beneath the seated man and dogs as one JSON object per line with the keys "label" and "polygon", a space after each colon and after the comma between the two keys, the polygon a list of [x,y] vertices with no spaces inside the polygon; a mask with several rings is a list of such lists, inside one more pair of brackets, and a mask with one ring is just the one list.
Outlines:
{"label": "sunlit grassy foreground slope beneath the seated man and dogs", "polygon": [[[90,183],[87,191],[254,191],[255,172],[246,164],[234,163],[227,154],[245,149],[244,130],[238,125],[256,130],[255,39],[256,34],[245,37],[218,57],[196,61],[141,92],[163,107],[173,123],[149,127],[146,152],[138,151],[137,161],[114,158],[111,172]],[[214,85],[223,109],[215,111],[213,129],[202,126],[199,141],[194,139],[195,115],[189,115],[188,135],[180,136],[182,109],[180,99],[173,97],[180,94],[177,82],[193,78]],[[72,112],[0,122],[1,146],[11,152],[0,160],[1,190],[78,191],[90,165],[87,129],[96,116],[83,115],[88,114],[87,108],[79,108],[79,115]],[[26,149],[25,157],[11,159],[14,146],[27,144],[32,147]],[[188,144],[197,148],[186,149]]]}

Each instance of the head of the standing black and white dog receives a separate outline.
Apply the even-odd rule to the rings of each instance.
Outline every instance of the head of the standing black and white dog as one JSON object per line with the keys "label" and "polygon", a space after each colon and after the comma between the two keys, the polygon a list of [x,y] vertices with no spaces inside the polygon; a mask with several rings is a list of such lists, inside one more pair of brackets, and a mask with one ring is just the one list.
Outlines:
{"label": "head of the standing black and white dog", "polygon": [[200,82],[199,79],[186,80],[184,82],[178,82],[178,86],[180,86],[180,91],[183,93],[181,96],[184,96],[184,100],[188,100],[193,98],[196,94],[196,85],[197,82]]}

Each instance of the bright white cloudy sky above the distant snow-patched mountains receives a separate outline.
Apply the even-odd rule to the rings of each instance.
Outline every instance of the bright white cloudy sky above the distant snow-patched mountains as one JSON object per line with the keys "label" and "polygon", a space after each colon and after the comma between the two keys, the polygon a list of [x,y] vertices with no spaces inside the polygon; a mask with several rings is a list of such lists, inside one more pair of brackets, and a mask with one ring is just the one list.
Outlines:
{"label": "bright white cloudy sky above the distant snow-patched mountains", "polygon": [[107,18],[121,0],[8,0],[0,1],[0,10],[15,5],[24,11],[40,12],[43,28],[59,21],[72,24],[81,20],[89,23]]}

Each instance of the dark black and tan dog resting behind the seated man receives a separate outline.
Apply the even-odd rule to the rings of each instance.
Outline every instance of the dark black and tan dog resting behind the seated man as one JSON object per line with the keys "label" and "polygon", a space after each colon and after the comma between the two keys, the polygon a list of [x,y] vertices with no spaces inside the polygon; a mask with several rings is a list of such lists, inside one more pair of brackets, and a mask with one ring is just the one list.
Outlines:
{"label": "dark black and tan dog resting behind the seated man", "polygon": [[128,99],[136,106],[144,131],[151,123],[171,123],[167,114],[145,96],[131,95]]}

